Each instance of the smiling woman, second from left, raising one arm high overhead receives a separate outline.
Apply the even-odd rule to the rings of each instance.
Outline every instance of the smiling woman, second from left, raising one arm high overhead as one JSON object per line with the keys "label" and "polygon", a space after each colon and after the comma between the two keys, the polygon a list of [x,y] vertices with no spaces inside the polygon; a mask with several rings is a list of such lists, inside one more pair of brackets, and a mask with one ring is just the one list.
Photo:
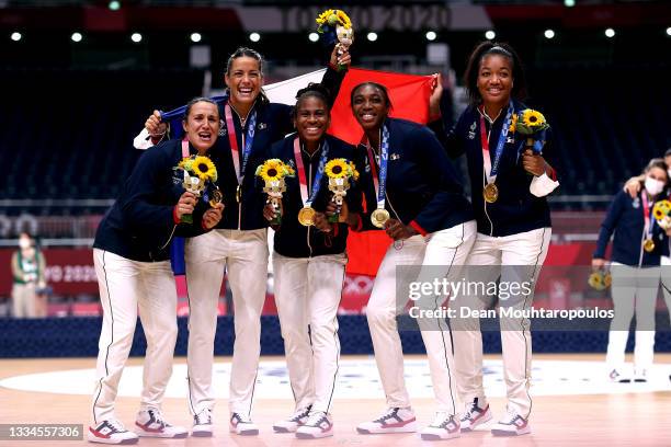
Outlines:
{"label": "smiling woman, second from left, raising one arm high overhead", "polygon": [[[338,95],[349,53],[333,48],[322,84],[333,101]],[[251,419],[261,353],[261,312],[268,284],[268,221],[265,197],[254,187],[254,170],[270,147],[294,130],[291,106],[271,103],[263,92],[264,58],[240,47],[228,59],[225,73],[227,99],[219,104],[221,136],[213,161],[221,179],[224,217],[215,231],[185,243],[189,289],[189,410],[194,436],[213,435],[215,393],[212,371],[217,329],[219,290],[227,274],[234,301],[235,344],[230,373],[229,431],[258,435]],[[160,140],[167,125],[155,112],[145,123],[152,141]]]}

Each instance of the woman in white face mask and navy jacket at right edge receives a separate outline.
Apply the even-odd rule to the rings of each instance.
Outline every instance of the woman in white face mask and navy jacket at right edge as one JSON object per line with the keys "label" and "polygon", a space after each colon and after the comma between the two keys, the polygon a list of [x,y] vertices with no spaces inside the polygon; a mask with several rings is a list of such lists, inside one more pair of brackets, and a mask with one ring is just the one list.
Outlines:
{"label": "woman in white face mask and navy jacket at right edge", "polygon": [[652,159],[644,171],[644,188],[635,197],[621,191],[609,207],[601,225],[592,259],[593,268],[605,266],[605,251],[613,239],[611,294],[615,316],[611,322],[606,367],[613,381],[630,381],[625,370],[625,347],[629,323],[636,313],[634,380],[646,381],[655,349],[655,303],[661,276],[661,257],[669,256],[668,234],[652,216],[656,200],[664,198],[667,165]]}

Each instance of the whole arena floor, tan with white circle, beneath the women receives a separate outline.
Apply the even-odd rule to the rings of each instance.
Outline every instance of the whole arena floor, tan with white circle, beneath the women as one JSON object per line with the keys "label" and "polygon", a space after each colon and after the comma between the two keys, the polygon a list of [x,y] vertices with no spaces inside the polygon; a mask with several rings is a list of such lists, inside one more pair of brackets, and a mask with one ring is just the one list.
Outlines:
{"label": "whole arena floor, tan with white circle, beneath the women", "polygon": [[[450,443],[453,446],[668,446],[671,433],[671,354],[656,356],[648,383],[611,383],[605,380],[602,355],[536,355],[532,388],[532,434],[519,438],[494,438],[487,426]],[[274,434],[272,424],[293,410],[282,357],[264,357],[259,371],[253,420],[259,436],[228,433],[226,396],[230,358],[215,365],[217,398],[213,438],[149,439],[144,446],[420,446],[417,434],[359,435],[357,423],[384,410],[375,363],[369,356],[348,356],[341,363],[333,408],[334,436],[300,440]],[[0,360],[0,422],[2,424],[86,424],[93,389],[93,358]],[[504,385],[500,356],[487,356],[485,386],[491,397],[494,419],[504,411]],[[175,425],[191,425],[185,403],[185,358],[178,358],[163,412]],[[408,356],[406,377],[420,424],[431,422],[433,399],[429,371],[422,356]],[[141,385],[141,359],[133,358],[120,386],[117,415],[132,426]],[[79,442],[10,442],[2,446],[83,445]]]}

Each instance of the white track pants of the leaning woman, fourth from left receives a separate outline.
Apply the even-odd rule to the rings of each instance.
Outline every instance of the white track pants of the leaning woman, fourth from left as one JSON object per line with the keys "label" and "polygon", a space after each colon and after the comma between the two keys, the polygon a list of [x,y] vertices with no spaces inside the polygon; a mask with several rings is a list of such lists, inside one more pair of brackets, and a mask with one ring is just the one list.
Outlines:
{"label": "white track pants of the leaning woman, fourth from left", "polygon": [[[396,266],[441,266],[445,271],[445,276],[456,280],[475,236],[476,222],[469,221],[428,234],[427,238],[413,236],[403,241],[400,250],[394,244],[387,249],[375,277],[366,317],[388,406],[410,406],[403,379],[403,353],[396,321],[396,314],[402,309],[408,297],[402,299],[396,297]],[[420,277],[422,275],[423,273],[420,273]],[[459,405],[450,330],[445,328],[422,331],[422,340],[429,356],[437,410],[456,414]]]}

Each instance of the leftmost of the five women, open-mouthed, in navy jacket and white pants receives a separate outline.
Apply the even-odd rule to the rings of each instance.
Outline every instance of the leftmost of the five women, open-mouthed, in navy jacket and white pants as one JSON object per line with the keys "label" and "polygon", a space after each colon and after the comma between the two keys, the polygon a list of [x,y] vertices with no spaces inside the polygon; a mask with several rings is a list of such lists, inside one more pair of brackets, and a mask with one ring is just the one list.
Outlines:
{"label": "leftmost of the five women, open-mouthed, in navy jacket and white pants", "polygon": [[[138,435],[187,435],[185,428],[167,423],[161,413],[178,336],[177,288],[168,248],[173,237],[196,237],[214,228],[224,205],[208,206],[204,198],[185,192],[183,173],[174,168],[184,158],[209,156],[220,127],[217,105],[208,99],[194,99],[186,106],[182,125],[184,140],[163,142],[140,157],[95,233],[93,264],[103,322],[89,413],[92,424],[87,432],[91,443],[135,444]],[[185,215],[192,215],[193,224],[183,222]],[[136,434],[116,419],[115,400],[138,311],[147,353]]]}

